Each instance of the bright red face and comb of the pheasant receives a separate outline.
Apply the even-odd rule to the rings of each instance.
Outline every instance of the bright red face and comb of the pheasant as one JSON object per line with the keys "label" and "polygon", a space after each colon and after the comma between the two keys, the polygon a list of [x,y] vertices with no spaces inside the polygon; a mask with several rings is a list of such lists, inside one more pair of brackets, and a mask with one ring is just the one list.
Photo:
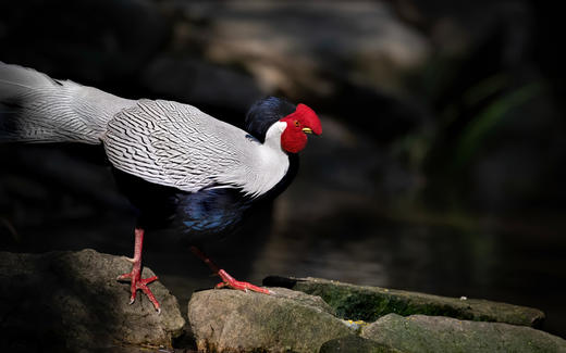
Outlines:
{"label": "bright red face and comb of the pheasant", "polygon": [[322,125],[317,114],[307,105],[298,104],[295,112],[280,119],[287,124],[281,135],[281,147],[290,153],[298,153],[307,146],[308,134],[322,134]]}

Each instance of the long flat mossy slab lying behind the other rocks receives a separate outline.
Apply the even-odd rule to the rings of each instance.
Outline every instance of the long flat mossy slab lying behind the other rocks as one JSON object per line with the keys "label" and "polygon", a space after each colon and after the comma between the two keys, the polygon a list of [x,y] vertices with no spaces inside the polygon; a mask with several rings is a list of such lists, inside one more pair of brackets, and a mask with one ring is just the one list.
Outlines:
{"label": "long flat mossy slab lying behind the other rocks", "polygon": [[446,298],[404,290],[355,286],[319,278],[268,277],[264,286],[280,286],[320,295],[346,319],[373,322],[395,313],[448,316],[539,327],[544,313],[537,308],[478,299]]}

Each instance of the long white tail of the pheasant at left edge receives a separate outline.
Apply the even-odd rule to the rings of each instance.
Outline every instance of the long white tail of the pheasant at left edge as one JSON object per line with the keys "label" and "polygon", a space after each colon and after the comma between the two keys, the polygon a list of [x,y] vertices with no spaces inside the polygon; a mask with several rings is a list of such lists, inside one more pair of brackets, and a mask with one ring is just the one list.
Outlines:
{"label": "long white tail of the pheasant at left edge", "polygon": [[110,118],[135,101],[0,62],[0,142],[100,143]]}

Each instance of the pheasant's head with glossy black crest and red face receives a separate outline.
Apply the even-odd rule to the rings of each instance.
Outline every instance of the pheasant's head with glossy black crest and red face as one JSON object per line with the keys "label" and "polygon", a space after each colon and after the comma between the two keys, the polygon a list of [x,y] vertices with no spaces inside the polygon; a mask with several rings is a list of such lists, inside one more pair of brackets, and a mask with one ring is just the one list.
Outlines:
{"label": "pheasant's head with glossy black crest and red face", "polygon": [[246,130],[260,141],[274,124],[284,124],[281,148],[297,153],[307,144],[307,135],[320,135],[322,125],[317,114],[307,105],[294,105],[283,99],[268,97],[256,102],[246,115]]}

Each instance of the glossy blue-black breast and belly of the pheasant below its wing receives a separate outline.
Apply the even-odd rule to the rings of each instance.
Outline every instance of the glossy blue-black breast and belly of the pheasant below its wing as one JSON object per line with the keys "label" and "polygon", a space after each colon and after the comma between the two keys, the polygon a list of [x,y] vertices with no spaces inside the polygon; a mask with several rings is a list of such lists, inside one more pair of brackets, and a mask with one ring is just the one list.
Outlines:
{"label": "glossy blue-black breast and belly of the pheasant below its wing", "polygon": [[256,210],[264,209],[266,202],[288,187],[297,171],[298,155],[290,154],[287,174],[270,191],[255,199],[233,187],[214,186],[186,192],[115,168],[113,173],[119,188],[138,212],[138,227],[172,230],[184,243],[201,244],[236,232],[246,218],[258,213]]}

